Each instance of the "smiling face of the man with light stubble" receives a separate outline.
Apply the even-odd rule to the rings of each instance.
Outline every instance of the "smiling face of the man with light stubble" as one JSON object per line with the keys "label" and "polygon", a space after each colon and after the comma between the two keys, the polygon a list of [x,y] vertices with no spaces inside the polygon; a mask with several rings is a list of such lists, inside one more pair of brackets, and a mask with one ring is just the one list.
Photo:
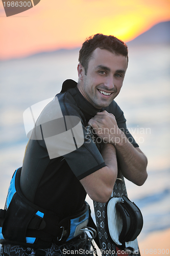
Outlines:
{"label": "smiling face of the man with light stubble", "polygon": [[96,48],[86,75],[82,65],[78,65],[80,92],[95,108],[108,106],[123,86],[127,65],[127,57]]}

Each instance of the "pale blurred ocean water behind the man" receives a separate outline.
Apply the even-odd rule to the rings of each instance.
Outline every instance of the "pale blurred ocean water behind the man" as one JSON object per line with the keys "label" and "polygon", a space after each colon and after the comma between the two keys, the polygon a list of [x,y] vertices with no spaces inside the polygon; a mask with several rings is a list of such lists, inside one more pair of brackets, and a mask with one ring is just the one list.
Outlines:
{"label": "pale blurred ocean water behind the man", "polygon": [[[0,208],[28,142],[23,112],[54,97],[65,79],[77,81],[78,49],[0,62]],[[126,180],[128,196],[141,209],[139,240],[170,227],[170,47],[129,48],[129,67],[116,102],[127,126],[148,157],[148,179],[138,187]],[[92,202],[87,199],[92,207]]]}

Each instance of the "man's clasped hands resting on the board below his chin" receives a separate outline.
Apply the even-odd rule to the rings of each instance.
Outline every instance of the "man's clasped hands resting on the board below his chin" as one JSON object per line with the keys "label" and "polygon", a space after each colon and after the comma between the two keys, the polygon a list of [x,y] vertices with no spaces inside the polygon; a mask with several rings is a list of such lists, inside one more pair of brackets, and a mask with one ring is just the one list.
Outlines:
{"label": "man's clasped hands resting on the board below his chin", "polygon": [[88,124],[104,142],[115,144],[116,138],[119,139],[122,134],[117,126],[115,116],[107,111],[98,112],[89,120]]}

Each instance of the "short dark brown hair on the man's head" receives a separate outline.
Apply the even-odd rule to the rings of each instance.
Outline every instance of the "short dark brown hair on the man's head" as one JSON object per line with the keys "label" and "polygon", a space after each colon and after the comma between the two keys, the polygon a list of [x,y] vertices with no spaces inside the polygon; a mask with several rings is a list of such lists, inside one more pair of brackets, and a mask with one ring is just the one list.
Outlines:
{"label": "short dark brown hair on the man's head", "polygon": [[121,54],[128,59],[128,47],[125,42],[112,35],[95,34],[86,38],[79,52],[79,62],[85,69],[85,75],[92,52],[98,47],[115,54]]}

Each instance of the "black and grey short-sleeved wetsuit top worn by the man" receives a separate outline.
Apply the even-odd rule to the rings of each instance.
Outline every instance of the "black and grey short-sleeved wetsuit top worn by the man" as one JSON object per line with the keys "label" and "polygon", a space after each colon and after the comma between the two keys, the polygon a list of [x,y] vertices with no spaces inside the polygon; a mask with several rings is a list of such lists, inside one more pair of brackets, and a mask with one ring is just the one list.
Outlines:
{"label": "black and grey short-sleeved wetsuit top worn by the man", "polygon": [[[53,141],[54,147],[58,144],[55,139],[52,140],[55,138],[53,136],[55,136],[57,124],[59,122],[60,124],[61,122],[65,123],[65,117],[68,116],[75,116],[81,120],[83,143],[79,146],[76,145],[78,140],[75,139],[75,136],[76,148],[74,151],[68,151],[67,154],[63,153],[57,157],[52,156],[49,153],[51,149],[47,148],[48,139],[45,139],[49,135],[42,133],[43,125],[37,125],[42,133],[42,138],[37,136],[36,139],[31,137],[29,140],[21,170],[20,187],[27,199],[44,209],[56,212],[62,219],[74,215],[83,206],[86,191],[79,180],[104,167],[105,162],[93,141],[87,137],[85,129],[89,119],[94,117],[99,109],[94,108],[82,96],[77,88],[77,83],[73,80],[66,80],[63,83],[62,91],[56,95],[55,99],[53,102],[59,102],[62,116],[58,116],[56,111],[56,117],[53,117],[50,122],[46,122],[48,125],[45,126],[45,132],[51,133],[50,140]],[[49,117],[52,109],[53,115],[55,115],[55,103],[53,102],[44,108],[37,122],[41,123],[39,120],[42,120],[45,115]],[[113,100],[107,108],[103,108],[101,111],[103,110],[115,116],[118,127],[124,131],[133,146],[138,147],[127,130],[124,113],[117,103]],[[66,133],[67,129],[63,129]],[[61,131],[56,133],[60,136],[61,141],[65,138],[62,125],[60,125],[59,130]],[[37,133],[37,130],[34,132]]]}

